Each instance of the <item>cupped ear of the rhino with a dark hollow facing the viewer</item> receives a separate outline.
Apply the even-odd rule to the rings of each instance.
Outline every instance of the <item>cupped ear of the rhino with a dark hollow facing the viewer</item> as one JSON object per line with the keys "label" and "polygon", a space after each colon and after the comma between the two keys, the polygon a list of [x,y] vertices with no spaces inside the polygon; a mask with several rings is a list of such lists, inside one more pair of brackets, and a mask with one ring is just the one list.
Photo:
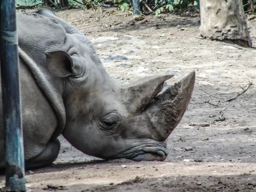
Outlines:
{"label": "cupped ear of the rhino with a dark hollow facing the viewer", "polygon": [[58,77],[67,77],[74,74],[73,60],[70,55],[62,50],[46,51],[46,64],[49,71]]}

